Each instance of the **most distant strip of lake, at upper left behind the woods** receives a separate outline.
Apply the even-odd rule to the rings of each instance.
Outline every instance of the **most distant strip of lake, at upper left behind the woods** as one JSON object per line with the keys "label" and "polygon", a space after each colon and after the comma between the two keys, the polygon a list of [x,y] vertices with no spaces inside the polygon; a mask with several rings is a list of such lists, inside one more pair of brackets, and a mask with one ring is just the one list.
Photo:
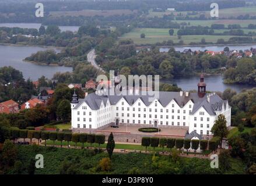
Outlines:
{"label": "most distant strip of lake, at upper left behind the woods", "polygon": [[[40,28],[40,23],[0,23],[0,27]],[[78,31],[78,26],[59,26],[61,31]]]}

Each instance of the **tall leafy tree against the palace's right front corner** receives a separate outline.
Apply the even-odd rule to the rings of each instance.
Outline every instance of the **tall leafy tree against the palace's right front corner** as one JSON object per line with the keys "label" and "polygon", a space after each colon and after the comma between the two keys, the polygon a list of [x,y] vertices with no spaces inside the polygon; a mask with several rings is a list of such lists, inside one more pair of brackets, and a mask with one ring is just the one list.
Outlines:
{"label": "tall leafy tree against the palace's right front corner", "polygon": [[[224,115],[219,115],[212,127],[213,136],[220,137],[220,144],[222,144],[223,138],[227,137],[229,131],[227,130],[227,121]],[[220,145],[222,146],[222,145]]]}

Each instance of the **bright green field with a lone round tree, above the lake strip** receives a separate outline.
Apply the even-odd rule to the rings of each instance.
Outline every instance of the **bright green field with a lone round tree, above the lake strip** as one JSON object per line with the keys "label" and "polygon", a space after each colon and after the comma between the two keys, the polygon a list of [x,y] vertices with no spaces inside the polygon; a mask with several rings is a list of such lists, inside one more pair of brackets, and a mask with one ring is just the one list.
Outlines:
{"label": "bright green field with a lone round tree, above the lake strip", "polygon": [[[135,44],[155,44],[156,42],[163,42],[167,40],[173,40],[178,42],[177,29],[174,29],[174,35],[170,36],[167,28],[135,28],[130,33],[122,35],[120,39],[131,38]],[[141,38],[141,34],[144,33],[146,38]],[[216,42],[219,38],[223,38],[225,41],[229,40],[232,35],[183,35],[181,40],[184,44],[190,44],[190,42],[200,42],[202,38],[205,38],[206,42]]]}

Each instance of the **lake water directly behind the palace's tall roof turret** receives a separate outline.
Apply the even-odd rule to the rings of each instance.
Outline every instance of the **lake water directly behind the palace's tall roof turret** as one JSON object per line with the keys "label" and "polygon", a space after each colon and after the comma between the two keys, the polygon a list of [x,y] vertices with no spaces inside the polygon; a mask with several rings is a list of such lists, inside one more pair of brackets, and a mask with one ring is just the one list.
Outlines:
{"label": "lake water directly behind the palace's tall roof turret", "polygon": [[[199,76],[177,78],[170,81],[161,81],[163,83],[177,84],[183,91],[197,90],[197,84],[199,83]],[[227,88],[231,88],[237,92],[241,92],[244,88],[254,88],[253,85],[243,84],[224,84],[223,76],[205,76],[206,91],[220,91],[223,92]]]}

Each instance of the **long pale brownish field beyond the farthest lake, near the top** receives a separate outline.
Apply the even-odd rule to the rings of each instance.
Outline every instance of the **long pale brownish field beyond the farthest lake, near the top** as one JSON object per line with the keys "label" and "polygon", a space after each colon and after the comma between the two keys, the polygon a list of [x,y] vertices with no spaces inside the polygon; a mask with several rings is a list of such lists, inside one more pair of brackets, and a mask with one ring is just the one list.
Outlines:
{"label": "long pale brownish field beyond the farthest lake, near the top", "polygon": [[129,15],[136,12],[133,12],[128,9],[124,10],[79,10],[79,11],[58,11],[50,12],[50,16],[59,17],[59,16],[114,16],[114,15]]}

